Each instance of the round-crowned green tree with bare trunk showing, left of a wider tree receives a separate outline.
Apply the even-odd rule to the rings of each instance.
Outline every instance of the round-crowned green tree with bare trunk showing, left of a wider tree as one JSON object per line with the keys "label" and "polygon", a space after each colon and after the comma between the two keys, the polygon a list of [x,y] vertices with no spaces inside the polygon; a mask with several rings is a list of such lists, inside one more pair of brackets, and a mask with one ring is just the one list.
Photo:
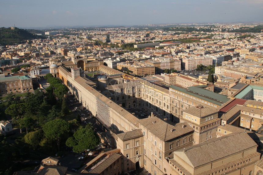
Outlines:
{"label": "round-crowned green tree with bare trunk showing, left of a wider tree", "polygon": [[60,150],[60,139],[63,134],[69,132],[69,122],[66,122],[63,119],[55,119],[50,122],[47,122],[43,127],[44,135],[48,139],[57,140],[57,148]]}

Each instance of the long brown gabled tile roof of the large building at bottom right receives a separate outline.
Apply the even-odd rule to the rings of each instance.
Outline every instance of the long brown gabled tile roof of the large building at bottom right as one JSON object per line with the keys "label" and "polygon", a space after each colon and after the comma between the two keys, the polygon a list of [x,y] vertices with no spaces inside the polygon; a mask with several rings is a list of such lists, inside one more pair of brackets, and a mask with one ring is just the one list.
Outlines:
{"label": "long brown gabled tile roof of the large building at bottom right", "polygon": [[[191,163],[190,166],[195,168],[253,147],[257,147],[254,140],[247,133],[241,132],[231,133],[185,149],[176,150],[174,154],[179,157],[186,156],[186,159]],[[207,154],[208,152],[209,154]]]}

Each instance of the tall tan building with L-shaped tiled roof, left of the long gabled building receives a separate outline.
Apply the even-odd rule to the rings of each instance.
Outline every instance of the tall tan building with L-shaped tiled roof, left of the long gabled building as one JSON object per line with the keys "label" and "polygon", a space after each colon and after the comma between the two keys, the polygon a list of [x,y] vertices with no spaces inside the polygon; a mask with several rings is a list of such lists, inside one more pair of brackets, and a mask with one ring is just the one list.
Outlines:
{"label": "tall tan building with L-shaped tiled roof, left of the long gabled building", "polygon": [[151,174],[168,173],[165,157],[173,151],[193,144],[194,129],[185,123],[170,124],[157,117],[141,119],[139,129],[143,132],[143,166]]}

